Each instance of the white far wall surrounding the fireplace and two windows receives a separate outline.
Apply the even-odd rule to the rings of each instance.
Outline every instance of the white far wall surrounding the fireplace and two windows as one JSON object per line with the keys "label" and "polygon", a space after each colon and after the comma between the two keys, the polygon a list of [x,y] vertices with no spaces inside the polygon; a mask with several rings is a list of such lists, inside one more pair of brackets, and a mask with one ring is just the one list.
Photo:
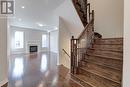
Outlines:
{"label": "white far wall surrounding the fireplace and two windows", "polygon": [[[14,49],[14,32],[15,31],[23,31],[24,32],[24,48],[23,49],[19,49],[16,50]],[[22,28],[22,27],[15,27],[15,26],[11,26],[10,27],[10,43],[11,43],[11,54],[17,54],[17,53],[28,53],[29,49],[28,49],[28,44],[34,44],[34,45],[38,45],[38,51],[48,51],[48,48],[42,48],[42,34],[47,34],[48,33],[45,31],[41,31],[41,30],[34,30],[34,29],[28,29],[28,28]],[[49,44],[49,43],[48,43]]]}

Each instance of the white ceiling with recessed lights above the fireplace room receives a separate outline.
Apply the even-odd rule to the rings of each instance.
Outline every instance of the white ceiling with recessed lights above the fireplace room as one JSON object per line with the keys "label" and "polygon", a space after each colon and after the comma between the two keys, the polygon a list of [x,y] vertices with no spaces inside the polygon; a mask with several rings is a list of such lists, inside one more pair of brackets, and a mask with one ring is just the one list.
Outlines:
{"label": "white ceiling with recessed lights above the fireplace room", "polygon": [[[10,25],[51,31],[56,29],[53,11],[65,0],[15,0]],[[41,25],[41,27],[39,26]]]}

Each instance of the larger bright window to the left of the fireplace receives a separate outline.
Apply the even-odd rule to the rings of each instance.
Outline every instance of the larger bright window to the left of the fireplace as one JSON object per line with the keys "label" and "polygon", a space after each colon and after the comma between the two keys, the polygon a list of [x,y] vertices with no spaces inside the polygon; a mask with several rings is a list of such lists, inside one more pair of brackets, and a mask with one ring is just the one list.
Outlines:
{"label": "larger bright window to the left of the fireplace", "polygon": [[21,49],[24,47],[24,33],[22,31],[15,31],[15,49]]}

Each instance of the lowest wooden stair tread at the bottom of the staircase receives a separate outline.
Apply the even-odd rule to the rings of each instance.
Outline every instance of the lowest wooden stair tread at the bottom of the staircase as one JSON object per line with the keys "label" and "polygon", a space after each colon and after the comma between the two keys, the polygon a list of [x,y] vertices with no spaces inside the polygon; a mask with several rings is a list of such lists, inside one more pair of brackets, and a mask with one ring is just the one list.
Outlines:
{"label": "lowest wooden stair tread at the bottom of the staircase", "polygon": [[120,84],[108,83],[102,81],[100,78],[95,78],[95,76],[85,76],[85,75],[74,75],[75,78],[78,78],[80,81],[90,85],[91,87],[120,87]]}

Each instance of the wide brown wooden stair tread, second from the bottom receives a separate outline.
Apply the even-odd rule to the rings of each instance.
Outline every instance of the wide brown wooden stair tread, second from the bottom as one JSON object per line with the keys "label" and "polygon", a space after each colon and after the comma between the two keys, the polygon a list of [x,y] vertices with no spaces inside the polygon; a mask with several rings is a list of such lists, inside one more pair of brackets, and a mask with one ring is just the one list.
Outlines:
{"label": "wide brown wooden stair tread, second from the bottom", "polygon": [[121,72],[117,70],[110,69],[107,67],[102,67],[102,66],[95,65],[92,63],[88,63],[86,66],[81,67],[81,69],[84,69],[85,71],[96,74],[100,77],[111,80],[113,82],[116,82],[119,84],[121,83],[121,76],[120,76]]}

